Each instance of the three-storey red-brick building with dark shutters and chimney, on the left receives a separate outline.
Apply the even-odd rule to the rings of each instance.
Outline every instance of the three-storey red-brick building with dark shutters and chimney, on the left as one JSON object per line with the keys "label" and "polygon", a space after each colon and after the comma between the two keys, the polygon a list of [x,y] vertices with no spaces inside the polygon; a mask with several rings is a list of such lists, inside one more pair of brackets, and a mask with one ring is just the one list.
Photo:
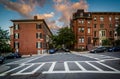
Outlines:
{"label": "three-storey red-brick building with dark shutters and chimney, on the left", "polygon": [[42,54],[49,48],[52,35],[44,19],[11,20],[11,46],[22,55]]}

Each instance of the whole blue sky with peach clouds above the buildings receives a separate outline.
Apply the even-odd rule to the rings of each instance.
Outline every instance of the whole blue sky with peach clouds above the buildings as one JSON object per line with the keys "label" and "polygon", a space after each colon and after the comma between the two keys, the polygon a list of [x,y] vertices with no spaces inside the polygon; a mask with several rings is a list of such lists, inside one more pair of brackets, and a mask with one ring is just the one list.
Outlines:
{"label": "whole blue sky with peach clouds above the buildings", "polygon": [[10,20],[45,19],[51,30],[69,26],[78,9],[86,12],[120,12],[120,0],[0,0],[0,27],[9,30]]}

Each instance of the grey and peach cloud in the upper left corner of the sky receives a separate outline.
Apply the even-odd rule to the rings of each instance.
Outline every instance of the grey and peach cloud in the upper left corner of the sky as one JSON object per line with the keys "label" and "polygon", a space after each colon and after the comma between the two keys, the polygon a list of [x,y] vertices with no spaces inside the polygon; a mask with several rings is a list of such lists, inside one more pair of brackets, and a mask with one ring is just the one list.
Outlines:
{"label": "grey and peach cloud in the upper left corner of the sky", "polygon": [[46,0],[19,0],[19,2],[12,2],[10,0],[0,0],[5,8],[18,12],[25,17],[31,17],[30,13],[34,11],[36,5],[43,6]]}

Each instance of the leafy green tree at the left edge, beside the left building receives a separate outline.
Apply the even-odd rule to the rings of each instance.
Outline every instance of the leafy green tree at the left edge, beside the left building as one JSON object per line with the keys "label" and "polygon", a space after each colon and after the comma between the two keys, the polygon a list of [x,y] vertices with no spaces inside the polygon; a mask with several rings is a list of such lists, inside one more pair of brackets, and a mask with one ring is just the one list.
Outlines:
{"label": "leafy green tree at the left edge, beside the left building", "polygon": [[8,52],[11,50],[9,41],[9,32],[8,30],[3,30],[0,27],[0,52]]}

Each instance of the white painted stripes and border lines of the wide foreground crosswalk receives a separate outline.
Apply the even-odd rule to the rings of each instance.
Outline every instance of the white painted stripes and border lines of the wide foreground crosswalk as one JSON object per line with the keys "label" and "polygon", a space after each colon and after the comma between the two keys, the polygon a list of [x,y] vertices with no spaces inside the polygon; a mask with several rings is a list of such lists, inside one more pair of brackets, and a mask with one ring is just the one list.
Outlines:
{"label": "white painted stripes and border lines of the wide foreground crosswalk", "polygon": [[[78,66],[78,70],[72,70],[69,68],[69,63],[72,62],[74,63],[74,65]],[[84,65],[82,65],[82,63],[86,63],[86,66],[89,67],[93,67],[92,70],[88,70],[84,67]],[[41,69],[43,66],[47,65],[51,63],[51,65],[49,66],[47,71],[41,71],[41,73],[43,74],[53,74],[53,73],[108,73],[108,74],[120,74],[120,70],[117,70],[116,68],[113,68],[111,66],[108,66],[104,63],[101,63],[100,61],[65,61],[62,62],[62,64],[64,64],[64,69],[65,70],[54,70],[55,66],[59,63],[59,62],[41,62],[41,63],[24,63],[24,64],[20,64],[20,66],[13,68],[11,70],[8,70],[6,72],[3,72],[0,74],[0,76],[5,76],[7,74],[10,75],[26,75],[26,74],[34,74],[36,73],[39,69]],[[96,63],[98,66],[94,65],[93,63]],[[38,65],[37,67],[34,68],[35,65]],[[101,69],[99,67],[99,65],[102,65],[103,68]],[[71,65],[70,65],[71,66]],[[33,68],[32,70],[28,71],[28,72],[24,72],[26,70],[29,70],[30,68]],[[21,70],[19,68],[22,68]],[[108,68],[108,70],[105,70],[104,68]]]}

